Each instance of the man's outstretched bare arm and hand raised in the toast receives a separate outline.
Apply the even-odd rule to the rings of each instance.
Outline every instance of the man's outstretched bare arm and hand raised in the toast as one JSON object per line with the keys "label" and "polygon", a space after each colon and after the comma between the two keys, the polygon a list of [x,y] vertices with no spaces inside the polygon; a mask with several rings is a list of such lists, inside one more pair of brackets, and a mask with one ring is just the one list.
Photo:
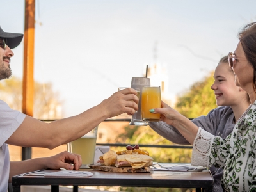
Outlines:
{"label": "man's outstretched bare arm and hand raised in the toast", "polygon": [[50,124],[26,116],[19,128],[6,143],[24,147],[55,148],[80,138],[100,122],[122,113],[134,114],[138,110],[136,90],[125,89],[116,92],[99,105],[69,118],[56,120]]}

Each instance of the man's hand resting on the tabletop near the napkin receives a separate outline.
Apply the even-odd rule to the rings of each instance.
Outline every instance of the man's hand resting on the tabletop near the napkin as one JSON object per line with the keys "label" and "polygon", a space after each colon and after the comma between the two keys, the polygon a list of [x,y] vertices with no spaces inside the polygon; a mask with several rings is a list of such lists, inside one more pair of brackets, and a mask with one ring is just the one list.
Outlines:
{"label": "man's hand resting on the tabletop near the napkin", "polygon": [[79,154],[72,154],[67,151],[61,152],[55,156],[45,157],[45,166],[52,170],[58,170],[60,168],[79,170],[81,164],[82,158]]}

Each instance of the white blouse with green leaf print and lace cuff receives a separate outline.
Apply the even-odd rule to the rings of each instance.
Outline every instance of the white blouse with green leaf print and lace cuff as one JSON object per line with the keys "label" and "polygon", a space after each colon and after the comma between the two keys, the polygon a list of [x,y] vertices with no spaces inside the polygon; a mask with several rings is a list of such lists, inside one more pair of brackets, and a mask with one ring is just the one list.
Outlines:
{"label": "white blouse with green leaf print and lace cuff", "polygon": [[225,191],[256,192],[255,136],[256,101],[244,112],[225,140],[199,127],[191,164],[223,168]]}

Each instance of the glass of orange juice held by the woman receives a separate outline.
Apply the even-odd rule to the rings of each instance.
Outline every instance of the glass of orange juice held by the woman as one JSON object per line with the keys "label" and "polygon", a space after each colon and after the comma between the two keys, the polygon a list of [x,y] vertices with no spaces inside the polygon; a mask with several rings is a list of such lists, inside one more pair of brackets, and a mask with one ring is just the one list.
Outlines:
{"label": "glass of orange juice held by the woman", "polygon": [[160,114],[150,113],[150,109],[161,108],[160,86],[143,86],[141,93],[141,117],[143,121],[158,122]]}

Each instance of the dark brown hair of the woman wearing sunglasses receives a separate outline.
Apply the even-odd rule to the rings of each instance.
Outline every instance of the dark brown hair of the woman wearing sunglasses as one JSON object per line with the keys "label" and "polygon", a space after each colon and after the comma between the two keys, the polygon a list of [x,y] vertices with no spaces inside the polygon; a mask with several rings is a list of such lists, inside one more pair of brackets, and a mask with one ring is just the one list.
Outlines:
{"label": "dark brown hair of the woman wearing sunglasses", "polygon": [[256,93],[256,22],[244,26],[238,33],[238,38],[242,44],[246,59],[254,70],[253,90]]}

